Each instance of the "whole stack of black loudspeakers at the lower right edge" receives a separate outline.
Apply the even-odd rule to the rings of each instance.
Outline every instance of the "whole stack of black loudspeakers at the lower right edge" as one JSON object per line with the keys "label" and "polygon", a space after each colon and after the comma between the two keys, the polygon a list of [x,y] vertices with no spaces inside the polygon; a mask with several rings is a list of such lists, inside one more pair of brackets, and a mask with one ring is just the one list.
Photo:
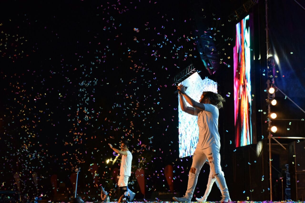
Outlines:
{"label": "whole stack of black loudspeakers at the lower right edge", "polygon": [[305,200],[305,142],[291,142],[289,146],[289,172],[291,199]]}

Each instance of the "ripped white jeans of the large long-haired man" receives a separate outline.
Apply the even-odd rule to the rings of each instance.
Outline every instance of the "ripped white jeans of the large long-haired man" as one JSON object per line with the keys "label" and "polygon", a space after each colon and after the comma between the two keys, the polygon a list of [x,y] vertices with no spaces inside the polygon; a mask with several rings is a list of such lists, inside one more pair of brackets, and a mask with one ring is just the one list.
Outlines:
{"label": "ripped white jeans of the large long-haired man", "polygon": [[222,196],[229,198],[229,191],[226,184],[226,180],[224,179],[223,173],[221,173],[219,149],[215,146],[210,146],[206,149],[196,148],[192,162],[192,168],[194,168],[194,170],[196,169],[196,171],[195,173],[189,172],[188,174],[188,189],[185,192],[185,196],[189,199],[193,197],[193,193],[198,180],[198,175],[204,162],[206,162],[206,159],[209,160],[210,171],[213,174],[216,174],[214,176],[219,183]]}

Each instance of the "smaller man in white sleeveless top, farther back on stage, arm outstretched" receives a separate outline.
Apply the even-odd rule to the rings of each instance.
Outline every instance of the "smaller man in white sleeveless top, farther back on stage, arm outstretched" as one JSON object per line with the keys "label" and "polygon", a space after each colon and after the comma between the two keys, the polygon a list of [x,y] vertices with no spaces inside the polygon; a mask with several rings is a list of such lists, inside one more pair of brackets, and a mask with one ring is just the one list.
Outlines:
{"label": "smaller man in white sleeveless top, farther back on stage, arm outstretched", "polygon": [[[119,178],[119,181],[118,181],[118,186],[119,187],[127,186],[129,177],[131,176],[131,161],[132,161],[132,154],[128,150],[129,142],[128,141],[122,141],[121,150],[113,148],[112,144],[109,144],[109,146],[117,154],[122,155],[121,166],[120,166],[120,178]],[[130,201],[132,201],[133,198],[135,197],[135,193],[132,192],[128,188],[128,194],[130,196]]]}

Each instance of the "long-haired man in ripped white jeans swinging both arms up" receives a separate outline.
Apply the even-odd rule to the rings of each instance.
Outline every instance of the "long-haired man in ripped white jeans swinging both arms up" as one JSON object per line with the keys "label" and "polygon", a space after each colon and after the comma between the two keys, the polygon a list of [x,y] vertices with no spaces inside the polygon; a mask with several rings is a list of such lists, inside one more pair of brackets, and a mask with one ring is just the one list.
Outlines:
{"label": "long-haired man in ripped white jeans swinging both arms up", "polygon": [[[199,102],[194,101],[187,94],[185,94],[185,87],[183,85],[177,86],[180,95],[180,106],[182,111],[198,116],[199,140],[196,150],[193,155],[192,167],[188,175],[188,188],[185,195],[181,198],[173,197],[174,201],[190,202],[197,184],[198,175],[206,159],[209,160],[210,170],[217,179],[222,199],[221,202],[231,201],[228,187],[221,173],[220,166],[220,136],[218,133],[218,109],[222,108],[224,98],[220,94],[214,92],[203,92]],[[188,102],[192,107],[185,104]]]}

